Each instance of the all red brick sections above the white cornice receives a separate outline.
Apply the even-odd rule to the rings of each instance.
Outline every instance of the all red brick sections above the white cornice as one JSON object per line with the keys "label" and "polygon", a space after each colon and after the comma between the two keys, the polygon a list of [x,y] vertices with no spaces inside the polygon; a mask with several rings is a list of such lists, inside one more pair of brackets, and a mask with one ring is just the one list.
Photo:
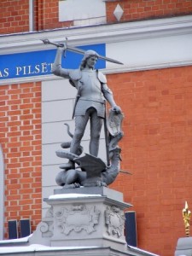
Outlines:
{"label": "all red brick sections above the white cornice", "polygon": [[[108,23],[117,22],[113,11],[118,3],[124,9],[120,21],[192,14],[191,0],[121,0],[106,3]],[[2,0],[0,11],[0,33],[29,31],[28,0]],[[65,26],[73,26],[73,20],[59,22],[59,0],[34,2],[34,31]]]}

